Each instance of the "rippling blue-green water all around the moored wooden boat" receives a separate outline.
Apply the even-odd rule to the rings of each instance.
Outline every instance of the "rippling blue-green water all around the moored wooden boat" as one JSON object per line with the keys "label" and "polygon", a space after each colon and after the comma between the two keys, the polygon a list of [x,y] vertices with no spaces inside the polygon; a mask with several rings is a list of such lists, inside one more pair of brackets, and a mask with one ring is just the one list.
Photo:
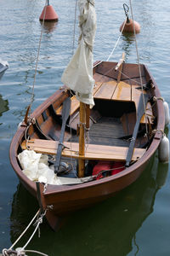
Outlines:
{"label": "rippling blue-green water all around the moored wooden boat", "polygon": [[[75,1],[50,1],[59,22],[45,26],[32,108],[61,85],[60,76],[71,58]],[[106,60],[119,37],[124,20],[122,1],[96,0],[98,27],[94,61]],[[140,62],[146,64],[170,104],[170,2],[132,1]],[[128,3],[127,3],[128,4]],[[42,25],[38,18],[44,2],[1,1],[0,57],[9,68],[0,80],[0,250],[8,248],[37,212],[37,201],[24,189],[8,160],[8,148],[17,125],[31,100],[37,48]],[[76,23],[77,26],[77,23]],[[78,29],[76,29],[76,36]],[[77,44],[77,40],[76,40]],[[122,51],[126,61],[136,62],[134,38],[122,36],[111,61]],[[168,127],[166,129],[168,135]],[[169,255],[170,176],[168,164],[158,162],[157,153],[136,183],[95,207],[76,212],[54,233],[44,221],[41,237],[34,236],[28,249],[48,255]],[[31,230],[18,247],[31,236]],[[29,254],[31,255],[31,253]]]}

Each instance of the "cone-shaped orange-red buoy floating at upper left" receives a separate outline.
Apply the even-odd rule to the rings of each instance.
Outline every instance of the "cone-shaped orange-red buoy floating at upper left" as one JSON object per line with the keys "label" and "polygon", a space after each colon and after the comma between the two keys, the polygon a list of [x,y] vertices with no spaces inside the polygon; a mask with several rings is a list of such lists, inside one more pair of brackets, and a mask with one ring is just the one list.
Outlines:
{"label": "cone-shaped orange-red buoy floating at upper left", "polygon": [[[45,10],[46,9],[46,10]],[[44,12],[45,12],[45,17],[44,17]],[[44,17],[44,21],[58,21],[59,20],[59,16],[56,14],[54,8],[52,5],[46,5],[43,10],[42,10],[42,14],[39,17],[39,20],[43,20]]]}

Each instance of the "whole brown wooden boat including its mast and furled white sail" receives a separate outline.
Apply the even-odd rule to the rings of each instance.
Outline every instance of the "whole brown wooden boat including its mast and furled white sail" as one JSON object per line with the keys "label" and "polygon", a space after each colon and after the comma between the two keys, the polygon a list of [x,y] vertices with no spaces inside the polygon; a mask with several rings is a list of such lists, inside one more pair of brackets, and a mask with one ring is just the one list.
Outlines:
{"label": "whole brown wooden boat including its mast and furled white sail", "polygon": [[[28,108],[9,151],[20,182],[37,197],[53,229],[59,218],[133,183],[155,154],[165,125],[161,95],[147,67],[124,63],[122,55],[118,63],[97,61],[93,69],[94,0],[78,4],[81,33],[61,78],[65,85],[29,117]],[[33,159],[25,166],[20,155],[31,150],[48,154],[47,176],[35,177],[37,166],[29,175]]]}

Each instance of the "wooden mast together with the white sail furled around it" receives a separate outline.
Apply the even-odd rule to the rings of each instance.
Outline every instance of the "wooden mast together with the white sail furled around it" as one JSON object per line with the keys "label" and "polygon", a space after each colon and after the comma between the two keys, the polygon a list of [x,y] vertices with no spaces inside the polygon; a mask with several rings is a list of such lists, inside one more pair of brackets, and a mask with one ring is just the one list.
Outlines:
{"label": "wooden mast together with the white sail furled around it", "polygon": [[[77,49],[62,74],[61,81],[76,92],[80,102],[79,170],[78,176],[84,176],[85,168],[85,129],[89,127],[89,106],[94,106],[93,46],[96,31],[94,0],[78,0],[79,40]],[[87,114],[86,114],[87,112]],[[87,122],[87,124],[85,124]],[[85,128],[86,126],[86,128]]]}

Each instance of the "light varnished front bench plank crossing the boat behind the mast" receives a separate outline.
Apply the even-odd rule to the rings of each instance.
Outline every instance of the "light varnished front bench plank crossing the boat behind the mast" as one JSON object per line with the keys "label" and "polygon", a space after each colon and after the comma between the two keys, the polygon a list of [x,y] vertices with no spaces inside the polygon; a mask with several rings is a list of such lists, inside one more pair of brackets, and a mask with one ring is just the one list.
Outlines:
{"label": "light varnished front bench plank crossing the boat behind the mast", "polygon": [[[79,158],[78,143],[64,143],[65,147],[62,151],[63,157]],[[41,139],[31,139],[27,142],[27,147],[42,154],[56,154],[58,142]],[[26,149],[26,141],[21,145],[23,149]],[[85,150],[85,154],[81,157],[87,160],[126,160],[127,147],[116,146],[104,146],[96,144],[88,144],[88,148]],[[134,148],[132,160],[137,160],[145,152],[143,148]]]}

